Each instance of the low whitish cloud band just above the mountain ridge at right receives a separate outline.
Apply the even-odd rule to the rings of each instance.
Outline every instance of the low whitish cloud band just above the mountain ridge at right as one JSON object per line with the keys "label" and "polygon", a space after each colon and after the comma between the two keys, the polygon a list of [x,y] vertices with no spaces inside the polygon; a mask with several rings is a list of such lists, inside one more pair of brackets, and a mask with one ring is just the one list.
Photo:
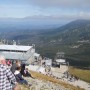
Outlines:
{"label": "low whitish cloud band just above the mountain ridge at right", "polygon": [[68,15],[62,14],[62,15],[50,15],[50,16],[35,15],[35,16],[30,16],[30,17],[25,17],[25,18],[71,21],[71,20],[76,20],[76,19],[90,19],[90,13],[85,13],[85,12],[81,11],[80,13],[77,13],[77,14],[68,14]]}

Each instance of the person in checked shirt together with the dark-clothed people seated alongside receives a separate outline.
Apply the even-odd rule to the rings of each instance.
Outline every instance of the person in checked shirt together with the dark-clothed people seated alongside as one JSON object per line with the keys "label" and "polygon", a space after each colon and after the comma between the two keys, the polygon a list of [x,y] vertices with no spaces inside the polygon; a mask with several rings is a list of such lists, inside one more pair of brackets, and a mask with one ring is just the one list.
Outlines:
{"label": "person in checked shirt together with the dark-clothed people seated alongside", "polygon": [[16,60],[11,67],[9,65],[10,62],[7,63],[5,57],[0,56],[0,90],[21,90],[18,83],[30,86],[23,78],[32,77],[25,64]]}

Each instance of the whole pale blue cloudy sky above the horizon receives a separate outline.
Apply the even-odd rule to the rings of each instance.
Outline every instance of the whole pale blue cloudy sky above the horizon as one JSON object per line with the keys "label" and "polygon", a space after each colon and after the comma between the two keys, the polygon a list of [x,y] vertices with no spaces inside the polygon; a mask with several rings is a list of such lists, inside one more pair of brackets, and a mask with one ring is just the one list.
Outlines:
{"label": "whole pale blue cloudy sky above the horizon", "polygon": [[0,0],[0,18],[90,19],[90,0]]}

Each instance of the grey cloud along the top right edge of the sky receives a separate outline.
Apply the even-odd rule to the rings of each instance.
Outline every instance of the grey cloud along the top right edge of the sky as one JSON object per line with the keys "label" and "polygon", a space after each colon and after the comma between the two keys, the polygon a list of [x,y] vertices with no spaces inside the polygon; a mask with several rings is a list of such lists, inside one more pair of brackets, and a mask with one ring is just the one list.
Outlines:
{"label": "grey cloud along the top right edge of the sky", "polygon": [[28,0],[31,4],[39,7],[61,7],[89,9],[90,0]]}

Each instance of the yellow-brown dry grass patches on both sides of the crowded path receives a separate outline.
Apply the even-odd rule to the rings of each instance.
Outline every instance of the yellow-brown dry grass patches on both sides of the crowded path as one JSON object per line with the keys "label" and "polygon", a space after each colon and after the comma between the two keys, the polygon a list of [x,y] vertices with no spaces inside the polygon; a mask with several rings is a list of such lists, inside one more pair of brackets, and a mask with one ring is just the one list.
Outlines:
{"label": "yellow-brown dry grass patches on both sides of the crowded path", "polygon": [[[83,79],[87,82],[90,83],[90,70],[82,70],[82,69],[77,69],[77,68],[70,68],[69,69],[69,72],[77,77],[79,77],[80,79]],[[37,78],[39,80],[43,80],[43,81],[50,81],[50,82],[53,82],[55,84],[59,84],[61,86],[64,86],[66,88],[70,88],[70,90],[83,90],[79,87],[74,87],[70,84],[66,84],[62,81],[59,81],[58,79],[54,79],[52,77],[49,77],[49,76],[46,76],[46,75],[43,75],[43,74],[40,74],[40,73],[37,73],[37,72],[33,72],[33,71],[30,71],[30,73],[32,74],[32,76],[34,78]],[[25,85],[21,85],[21,90],[30,90],[27,86]]]}

